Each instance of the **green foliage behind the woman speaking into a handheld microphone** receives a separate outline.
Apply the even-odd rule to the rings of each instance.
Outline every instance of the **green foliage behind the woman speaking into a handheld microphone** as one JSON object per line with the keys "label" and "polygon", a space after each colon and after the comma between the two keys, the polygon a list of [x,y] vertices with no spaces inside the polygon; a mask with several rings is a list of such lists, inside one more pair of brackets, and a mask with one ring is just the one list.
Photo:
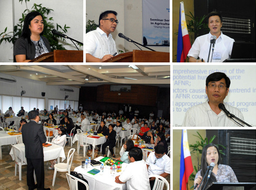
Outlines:
{"label": "green foliage behind the woman speaking into a handheld microphone", "polygon": [[[199,138],[199,141],[196,141],[195,144],[189,144],[189,148],[190,148],[190,153],[191,155],[193,154],[196,158],[197,158],[197,166],[194,165],[194,171],[195,171],[195,174],[200,170],[200,167],[201,167],[201,154],[202,154],[202,151],[203,151],[203,148],[205,145],[209,144],[209,143],[212,143],[214,138],[216,138],[216,136],[214,135],[213,137],[210,138],[210,140],[208,141],[208,138],[202,138],[202,136],[199,134],[199,132],[196,132],[198,134],[197,135],[194,135],[195,137]],[[220,149],[220,147],[222,148],[226,148],[225,146],[221,145],[221,144],[217,144],[219,146],[219,151],[221,154],[225,155],[223,153],[223,151]],[[190,181],[193,181],[194,182],[194,178],[195,178],[195,174],[192,173],[190,176],[189,176],[189,180]],[[190,189],[193,189],[194,188],[194,185],[192,187],[190,187]]]}

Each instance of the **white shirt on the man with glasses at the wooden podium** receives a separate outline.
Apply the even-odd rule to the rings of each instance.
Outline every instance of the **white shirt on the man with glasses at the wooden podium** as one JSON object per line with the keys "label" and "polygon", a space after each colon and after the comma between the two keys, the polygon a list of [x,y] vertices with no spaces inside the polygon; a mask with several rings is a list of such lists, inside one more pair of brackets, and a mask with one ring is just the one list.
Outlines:
{"label": "white shirt on the man with glasses at the wooden podium", "polygon": [[97,27],[96,30],[85,34],[85,53],[102,59],[104,55],[113,55],[115,52],[118,51],[111,33],[107,37],[107,34]]}

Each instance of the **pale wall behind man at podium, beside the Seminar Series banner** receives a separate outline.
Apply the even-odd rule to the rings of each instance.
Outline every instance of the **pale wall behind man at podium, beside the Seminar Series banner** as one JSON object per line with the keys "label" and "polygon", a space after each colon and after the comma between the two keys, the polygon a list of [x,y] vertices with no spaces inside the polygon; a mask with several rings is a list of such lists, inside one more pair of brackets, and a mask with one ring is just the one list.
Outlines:
{"label": "pale wall behind man at podium, beside the Seminar Series banner", "polygon": [[[100,13],[106,10],[113,10],[118,13],[117,19],[119,21],[116,31],[112,33],[116,41],[117,49],[128,49],[131,52],[138,49],[133,43],[119,38],[118,33],[123,33],[130,39],[143,44],[142,42],[142,0],[109,0],[108,3],[103,3],[102,0],[87,0],[86,1],[86,21],[95,20],[98,24]],[[142,50],[148,50],[140,47]],[[159,52],[170,52],[169,47],[155,47],[150,48]]]}

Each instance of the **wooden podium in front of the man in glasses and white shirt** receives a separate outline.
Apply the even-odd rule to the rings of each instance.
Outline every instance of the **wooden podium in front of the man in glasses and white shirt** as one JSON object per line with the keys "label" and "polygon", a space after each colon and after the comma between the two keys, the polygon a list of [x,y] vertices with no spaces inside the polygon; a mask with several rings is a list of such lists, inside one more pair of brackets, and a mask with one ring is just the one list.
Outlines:
{"label": "wooden podium in front of the man in glasses and white shirt", "polygon": [[118,54],[103,62],[170,62],[170,53],[133,50]]}

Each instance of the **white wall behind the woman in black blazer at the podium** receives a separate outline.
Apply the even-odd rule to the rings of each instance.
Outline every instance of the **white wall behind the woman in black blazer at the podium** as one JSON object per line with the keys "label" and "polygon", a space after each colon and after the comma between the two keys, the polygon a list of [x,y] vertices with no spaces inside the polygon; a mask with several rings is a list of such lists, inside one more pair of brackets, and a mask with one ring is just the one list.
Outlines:
{"label": "white wall behind the woman in black blazer at the podium", "polygon": [[[56,23],[60,26],[65,24],[69,26],[68,33],[70,38],[76,39],[83,43],[83,0],[30,0],[27,2],[28,9],[31,10],[33,5],[42,4],[42,7],[53,9],[48,17],[53,17],[53,23],[56,29]],[[22,13],[26,9],[25,0],[21,4],[18,0],[0,0],[0,33],[8,26],[8,31],[19,23]],[[66,45],[66,44],[72,45]],[[67,39],[65,45],[67,50],[76,50],[74,44]],[[13,62],[13,44],[2,43],[0,45],[0,62]],[[83,50],[83,46],[78,48]]]}

